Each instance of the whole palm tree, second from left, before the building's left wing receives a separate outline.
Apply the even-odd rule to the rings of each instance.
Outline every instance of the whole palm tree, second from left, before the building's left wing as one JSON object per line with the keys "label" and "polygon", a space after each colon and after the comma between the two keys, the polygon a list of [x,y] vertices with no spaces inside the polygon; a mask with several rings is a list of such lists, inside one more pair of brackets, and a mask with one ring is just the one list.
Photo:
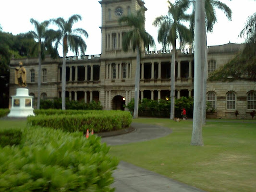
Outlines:
{"label": "whole palm tree, second from left, before the building's left wing", "polygon": [[84,55],[87,48],[85,40],[79,36],[83,35],[88,38],[87,32],[82,28],[73,29],[73,24],[82,20],[81,15],[74,14],[67,21],[59,17],[52,21],[59,27],[57,31],[59,37],[56,40],[55,48],[58,48],[62,44],[63,58],[62,58],[62,75],[61,75],[61,99],[62,99],[62,110],[66,109],[65,96],[66,96],[66,54],[69,49],[76,53],[79,51]]}

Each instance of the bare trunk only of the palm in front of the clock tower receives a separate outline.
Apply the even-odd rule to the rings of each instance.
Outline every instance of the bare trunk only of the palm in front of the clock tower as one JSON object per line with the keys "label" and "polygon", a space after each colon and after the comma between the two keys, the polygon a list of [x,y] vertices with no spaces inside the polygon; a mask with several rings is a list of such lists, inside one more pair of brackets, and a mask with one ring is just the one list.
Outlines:
{"label": "bare trunk only of the palm in front of the clock tower", "polygon": [[135,71],[135,96],[134,96],[134,119],[138,118],[139,91],[140,91],[140,52],[139,46],[136,46],[136,71]]}

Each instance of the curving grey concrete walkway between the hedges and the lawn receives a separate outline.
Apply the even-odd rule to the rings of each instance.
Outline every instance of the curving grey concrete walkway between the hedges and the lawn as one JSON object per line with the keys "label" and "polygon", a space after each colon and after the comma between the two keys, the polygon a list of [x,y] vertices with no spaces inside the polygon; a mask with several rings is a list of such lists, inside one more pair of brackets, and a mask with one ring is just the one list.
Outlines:
{"label": "curving grey concrete walkway between the hedges and the lawn", "polygon": [[[108,145],[129,144],[167,136],[171,129],[132,123],[133,132],[103,137],[102,142]],[[172,180],[144,168],[121,161],[113,174],[115,182],[112,184],[116,192],[204,192],[195,187]]]}

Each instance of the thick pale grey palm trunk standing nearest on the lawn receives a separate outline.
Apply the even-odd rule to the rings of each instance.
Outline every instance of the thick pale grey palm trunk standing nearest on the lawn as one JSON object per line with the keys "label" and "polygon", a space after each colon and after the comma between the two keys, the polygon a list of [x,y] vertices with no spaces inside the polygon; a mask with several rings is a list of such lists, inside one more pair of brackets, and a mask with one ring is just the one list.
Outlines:
{"label": "thick pale grey palm trunk standing nearest on the lawn", "polygon": [[204,145],[202,136],[202,74],[205,63],[205,0],[195,1],[195,83],[191,145]]}

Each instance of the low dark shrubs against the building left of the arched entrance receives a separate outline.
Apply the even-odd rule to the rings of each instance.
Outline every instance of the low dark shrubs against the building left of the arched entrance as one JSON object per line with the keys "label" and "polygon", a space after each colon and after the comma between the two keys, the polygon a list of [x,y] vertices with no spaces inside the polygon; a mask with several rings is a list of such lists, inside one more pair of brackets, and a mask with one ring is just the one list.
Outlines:
{"label": "low dark shrubs against the building left of the arched entrance", "polygon": [[[40,109],[49,109],[49,108],[61,108],[61,98],[56,98],[52,100],[41,100],[40,101]],[[66,109],[73,110],[102,110],[103,106],[101,106],[100,101],[91,101],[90,103],[85,103],[83,101],[70,101],[66,99]]]}

